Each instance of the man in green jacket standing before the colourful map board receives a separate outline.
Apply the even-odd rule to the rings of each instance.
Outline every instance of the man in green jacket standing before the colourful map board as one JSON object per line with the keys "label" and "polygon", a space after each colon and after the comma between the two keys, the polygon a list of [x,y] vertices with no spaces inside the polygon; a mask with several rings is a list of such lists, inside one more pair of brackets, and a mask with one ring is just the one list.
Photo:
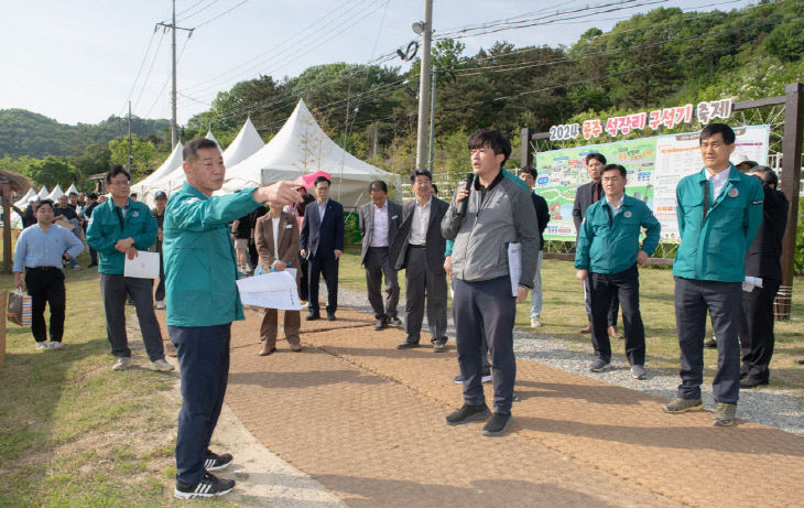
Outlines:
{"label": "man in green jacket standing before the colourful map board", "polygon": [[[656,250],[662,226],[648,205],[626,195],[628,175],[619,164],[608,164],[600,179],[605,198],[589,206],[578,231],[575,250],[576,277],[589,279],[591,344],[595,360],[589,367],[600,372],[611,361],[608,311],[612,295],[622,306],[626,356],[634,379],[645,377],[645,329],[639,312],[639,270]],[[639,236],[645,229],[642,248]]]}

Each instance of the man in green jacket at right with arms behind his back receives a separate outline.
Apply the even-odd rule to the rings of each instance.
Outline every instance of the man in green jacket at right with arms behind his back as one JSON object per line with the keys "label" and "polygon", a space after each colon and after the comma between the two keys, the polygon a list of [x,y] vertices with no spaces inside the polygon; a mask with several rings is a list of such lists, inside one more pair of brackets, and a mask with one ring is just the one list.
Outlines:
{"label": "man in green jacket at right with arms behind his back", "polygon": [[746,252],[762,224],[764,194],[759,181],[729,162],[735,131],[710,123],[700,131],[704,169],[676,187],[681,245],[673,263],[675,322],[681,349],[678,394],[662,407],[669,413],[703,409],[706,313],[717,336],[713,423],[734,425],[740,390],[741,291]]}

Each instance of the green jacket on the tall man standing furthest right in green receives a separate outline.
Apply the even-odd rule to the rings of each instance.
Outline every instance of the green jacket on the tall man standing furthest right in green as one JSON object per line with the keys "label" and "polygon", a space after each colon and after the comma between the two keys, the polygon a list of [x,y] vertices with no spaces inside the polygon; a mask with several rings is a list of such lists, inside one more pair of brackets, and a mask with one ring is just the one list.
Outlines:
{"label": "green jacket on the tall man standing furthest right in green", "polygon": [[746,252],[762,224],[762,185],[754,176],[727,170],[728,180],[704,217],[706,169],[685,176],[675,190],[681,245],[673,274],[685,279],[742,282]]}

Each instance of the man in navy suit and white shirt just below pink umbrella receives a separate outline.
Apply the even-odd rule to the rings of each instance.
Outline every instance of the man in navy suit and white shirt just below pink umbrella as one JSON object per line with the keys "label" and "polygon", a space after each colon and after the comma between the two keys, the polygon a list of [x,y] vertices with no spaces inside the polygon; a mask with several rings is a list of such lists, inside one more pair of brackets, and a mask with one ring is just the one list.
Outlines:
{"label": "man in navy suit and white shirt just below pink umbrella", "polygon": [[305,320],[319,320],[318,280],[324,272],[327,284],[327,320],[335,321],[338,310],[338,259],[344,253],[344,206],[329,198],[329,179],[315,179],[315,203],[307,205],[302,223],[302,257],[308,260],[308,294]]}

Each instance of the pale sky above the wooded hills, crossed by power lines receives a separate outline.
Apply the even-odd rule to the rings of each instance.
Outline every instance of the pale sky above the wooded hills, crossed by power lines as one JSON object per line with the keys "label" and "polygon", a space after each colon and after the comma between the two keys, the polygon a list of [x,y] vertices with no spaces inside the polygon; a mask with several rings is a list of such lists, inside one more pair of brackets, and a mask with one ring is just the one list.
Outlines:
{"label": "pale sky above the wooded hills, crossed by power lines", "polygon": [[[572,45],[590,28],[658,7],[704,12],[748,0],[434,0],[435,35],[489,21],[578,17],[551,24],[461,39],[472,55],[497,41]],[[615,10],[588,14],[587,7]],[[123,116],[131,100],[141,118],[170,118],[171,0],[0,0],[0,109],[23,108],[63,123]],[[577,12],[573,12],[579,10]],[[292,77],[312,65],[368,64],[417,40],[423,0],[176,0],[178,122],[209,109],[217,93],[240,80]],[[400,58],[383,63],[403,71]]]}

